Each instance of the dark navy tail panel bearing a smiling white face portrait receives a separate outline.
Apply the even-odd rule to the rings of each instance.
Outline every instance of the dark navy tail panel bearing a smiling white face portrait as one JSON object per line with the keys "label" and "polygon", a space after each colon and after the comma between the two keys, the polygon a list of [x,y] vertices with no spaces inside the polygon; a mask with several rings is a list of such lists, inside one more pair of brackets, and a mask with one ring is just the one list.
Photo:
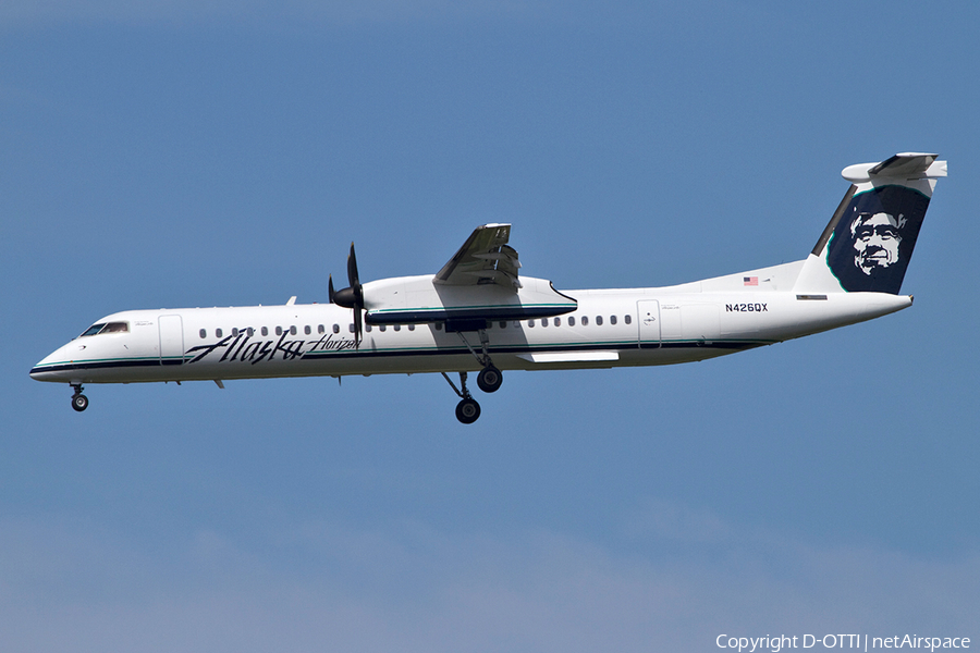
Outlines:
{"label": "dark navy tail panel bearing a smiling white face portrait", "polygon": [[826,264],[847,292],[897,294],[929,198],[907,186],[854,196],[834,229]]}

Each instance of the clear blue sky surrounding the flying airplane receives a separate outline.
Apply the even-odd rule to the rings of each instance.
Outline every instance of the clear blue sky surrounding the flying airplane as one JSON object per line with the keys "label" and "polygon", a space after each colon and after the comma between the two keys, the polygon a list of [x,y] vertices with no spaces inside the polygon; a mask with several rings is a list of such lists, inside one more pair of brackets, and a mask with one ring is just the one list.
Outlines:
{"label": "clear blue sky surrounding the flying airplane", "polygon": [[[203,7],[203,8],[201,8]],[[980,10],[0,7],[0,646],[715,650],[980,638]],[[87,387],[128,308],[326,301],[512,223],[560,289],[803,258],[897,151],[950,161],[869,323],[672,368]]]}

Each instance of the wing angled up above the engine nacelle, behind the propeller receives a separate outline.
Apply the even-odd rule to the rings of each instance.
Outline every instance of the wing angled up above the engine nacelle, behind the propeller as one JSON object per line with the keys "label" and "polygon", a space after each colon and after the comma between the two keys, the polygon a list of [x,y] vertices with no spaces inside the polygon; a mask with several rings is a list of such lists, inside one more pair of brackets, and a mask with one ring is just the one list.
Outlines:
{"label": "wing angled up above the engine nacelle, behind the propeller", "polygon": [[517,251],[507,245],[510,237],[510,224],[476,227],[432,282],[440,285],[495,283],[516,293],[520,288],[520,280],[517,279],[520,261],[517,260]]}

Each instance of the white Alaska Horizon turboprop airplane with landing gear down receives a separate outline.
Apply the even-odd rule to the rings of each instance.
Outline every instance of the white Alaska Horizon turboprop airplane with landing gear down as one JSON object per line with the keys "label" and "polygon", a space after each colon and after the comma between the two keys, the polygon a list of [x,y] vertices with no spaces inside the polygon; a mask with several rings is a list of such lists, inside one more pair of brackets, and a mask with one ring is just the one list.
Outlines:
{"label": "white Alaska Horizon turboprop airplane with landing gear down", "polygon": [[[806,259],[665,287],[556,291],[518,274],[510,224],[483,224],[433,274],[348,286],[328,304],[128,310],[101,318],[30,370],[68,383],[441,373],[456,418],[500,390],[502,371],[690,362],[892,313],[935,183],[938,155],[904,152],[845,168],[850,187]],[[460,374],[457,386],[449,377]]]}

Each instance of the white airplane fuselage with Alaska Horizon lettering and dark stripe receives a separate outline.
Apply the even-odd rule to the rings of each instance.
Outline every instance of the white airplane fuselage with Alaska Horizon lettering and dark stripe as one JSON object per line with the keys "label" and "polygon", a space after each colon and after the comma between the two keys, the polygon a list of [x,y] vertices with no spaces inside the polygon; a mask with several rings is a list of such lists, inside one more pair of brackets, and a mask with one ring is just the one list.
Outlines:
{"label": "white airplane fuselage with Alaska Horizon lettering and dark stripe", "polygon": [[[501,370],[610,368],[702,360],[901,310],[885,293],[799,295],[780,288],[799,263],[669,287],[563,291],[559,317],[488,321]],[[750,276],[746,276],[750,274]],[[747,281],[751,279],[752,281]],[[759,280],[762,280],[761,282]],[[746,284],[754,284],[747,286]],[[476,332],[440,322],[366,325],[334,304],[130,310],[113,313],[39,361],[59,383],[136,383],[479,370]]]}

